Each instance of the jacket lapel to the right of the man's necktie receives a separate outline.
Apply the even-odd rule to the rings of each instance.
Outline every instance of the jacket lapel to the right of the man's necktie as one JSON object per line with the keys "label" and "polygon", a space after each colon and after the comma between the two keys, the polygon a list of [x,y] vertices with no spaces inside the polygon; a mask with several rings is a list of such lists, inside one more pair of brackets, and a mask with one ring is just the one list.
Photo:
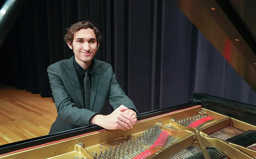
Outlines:
{"label": "jacket lapel to the right of the man's necktie", "polygon": [[[93,59],[94,60],[94,59]],[[97,66],[97,63],[95,63],[92,66],[92,84],[91,84],[91,97],[90,97],[90,110],[93,109],[94,106],[94,100],[97,93],[99,78],[100,78],[100,68]]]}

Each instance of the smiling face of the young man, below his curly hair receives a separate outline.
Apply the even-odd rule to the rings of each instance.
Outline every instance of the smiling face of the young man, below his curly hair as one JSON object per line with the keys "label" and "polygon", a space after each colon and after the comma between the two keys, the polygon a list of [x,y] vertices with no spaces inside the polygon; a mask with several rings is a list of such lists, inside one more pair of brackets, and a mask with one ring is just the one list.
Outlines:
{"label": "smiling face of the young man, below his curly hair", "polygon": [[96,35],[91,28],[81,29],[74,34],[74,40],[70,49],[73,49],[75,56],[81,62],[89,62],[97,51]]}

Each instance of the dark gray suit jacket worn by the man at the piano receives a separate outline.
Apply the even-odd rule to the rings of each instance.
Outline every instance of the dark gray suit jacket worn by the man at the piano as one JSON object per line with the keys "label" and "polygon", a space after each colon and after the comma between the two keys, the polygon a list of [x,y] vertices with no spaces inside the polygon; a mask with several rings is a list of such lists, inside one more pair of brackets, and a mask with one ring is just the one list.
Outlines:
{"label": "dark gray suit jacket worn by the man at the piano", "polygon": [[105,113],[106,100],[109,100],[113,109],[124,105],[135,110],[138,115],[134,103],[118,84],[112,66],[96,59],[93,59],[92,65],[90,110],[85,109],[73,60],[74,56],[53,63],[47,69],[58,112],[49,134],[90,125],[89,120],[95,114]]}

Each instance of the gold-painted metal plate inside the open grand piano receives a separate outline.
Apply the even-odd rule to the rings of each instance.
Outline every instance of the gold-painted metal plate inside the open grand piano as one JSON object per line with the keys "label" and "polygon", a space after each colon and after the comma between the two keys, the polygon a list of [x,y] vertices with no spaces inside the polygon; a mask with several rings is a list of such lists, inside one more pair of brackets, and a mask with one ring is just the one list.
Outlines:
{"label": "gold-painted metal plate inside the open grand piano", "polygon": [[[203,114],[199,118],[193,118],[199,112]],[[200,129],[182,126],[177,122],[191,116],[189,123],[184,120],[187,125],[206,117],[213,118],[214,122],[205,125],[203,123]],[[177,156],[185,158],[182,156],[185,152],[190,156],[200,153],[207,159],[210,157],[209,147],[214,147],[227,159],[254,158],[256,151],[210,136],[212,132],[225,126],[242,131],[256,130],[255,126],[248,123],[203,109],[202,106],[194,106],[140,120],[130,130],[95,131],[2,155],[0,159],[28,156],[37,159],[132,159],[143,155],[147,159],[174,159]]]}

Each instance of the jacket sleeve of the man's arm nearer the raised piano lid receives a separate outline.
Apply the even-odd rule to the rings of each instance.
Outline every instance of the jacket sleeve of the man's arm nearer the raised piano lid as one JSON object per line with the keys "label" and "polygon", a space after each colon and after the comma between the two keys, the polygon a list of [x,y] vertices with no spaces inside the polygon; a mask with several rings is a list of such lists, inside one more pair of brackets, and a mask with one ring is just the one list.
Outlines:
{"label": "jacket sleeve of the man's arm nearer the raised piano lid", "polygon": [[130,98],[122,91],[120,87],[116,75],[113,72],[113,68],[110,65],[110,91],[109,91],[109,103],[113,107],[113,109],[117,109],[120,105],[126,106],[128,109],[133,109],[137,116],[139,115],[134,103],[130,100]]}

